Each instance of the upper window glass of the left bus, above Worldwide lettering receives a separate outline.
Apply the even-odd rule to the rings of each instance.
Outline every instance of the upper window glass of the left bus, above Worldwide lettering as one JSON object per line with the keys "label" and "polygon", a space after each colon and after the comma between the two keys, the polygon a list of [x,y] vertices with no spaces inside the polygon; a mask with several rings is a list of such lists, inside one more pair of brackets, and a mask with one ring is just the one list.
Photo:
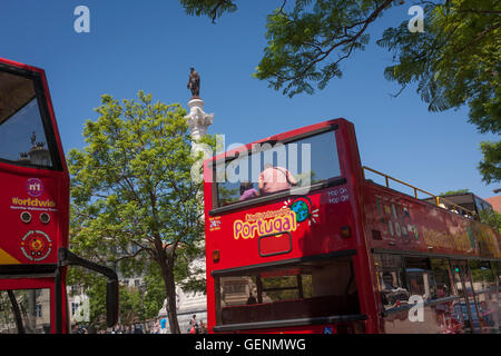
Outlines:
{"label": "upper window glass of the left bus, above Worldwide lettering", "polygon": [[52,167],[33,79],[0,71],[0,160]]}

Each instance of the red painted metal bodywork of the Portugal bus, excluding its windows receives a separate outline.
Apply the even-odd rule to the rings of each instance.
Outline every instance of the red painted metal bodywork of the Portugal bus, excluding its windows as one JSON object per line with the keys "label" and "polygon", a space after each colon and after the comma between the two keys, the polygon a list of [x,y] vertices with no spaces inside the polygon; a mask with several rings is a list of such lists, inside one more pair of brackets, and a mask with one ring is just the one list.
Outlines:
{"label": "red painted metal bodywork of the Portugal bus, excluding its windows", "polygon": [[[353,267],[358,291],[361,314],[366,315],[362,323],[364,333],[384,332],[381,313],[381,296],[372,249],[390,249],[421,254],[445,254],[501,258],[500,237],[490,227],[466,219],[429,202],[415,199],[393,189],[375,185],[364,179],[353,123],[345,119],[330,120],[288,132],[275,135],[245,146],[265,141],[281,141],[332,125],[335,130],[341,176],[346,182],[308,194],[313,209],[318,209],[316,224],[298,224],[292,233],[292,249],[287,254],[261,256],[258,238],[235,238],[234,224],[248,216],[281,210],[288,197],[264,202],[249,208],[236,208],[210,215],[216,206],[213,201],[212,166],[225,157],[234,157],[243,148],[217,155],[204,162],[205,221],[206,221],[206,264],[207,264],[207,322],[209,332],[216,325],[215,278],[212,273],[228,268],[259,265],[285,259],[315,256],[321,254],[354,249]],[[331,204],[334,190],[345,189],[348,199]],[[377,208],[380,205],[380,208]],[[394,208],[392,208],[392,205]],[[387,206],[387,207],[386,207]],[[383,209],[383,211],[380,211]],[[390,215],[387,214],[390,209]],[[395,214],[393,215],[393,210]],[[384,222],[383,220],[384,219]],[[389,220],[393,233],[389,230]],[[395,229],[395,222],[399,225]],[[350,226],[351,237],[342,238],[340,230]],[[405,236],[402,227],[405,226]],[[416,236],[411,231],[416,231]],[[376,231],[376,233],[374,233]],[[393,235],[392,235],[392,234]],[[376,236],[375,239],[373,235]],[[441,238],[446,235],[448,238]],[[431,248],[433,247],[433,248]],[[213,251],[218,250],[218,261],[213,261]],[[328,325],[304,325],[243,333],[321,333]],[[335,327],[334,327],[335,329]],[[344,330],[350,329],[343,328]],[[355,329],[355,328],[353,328]],[[356,328],[360,330],[360,328]]]}

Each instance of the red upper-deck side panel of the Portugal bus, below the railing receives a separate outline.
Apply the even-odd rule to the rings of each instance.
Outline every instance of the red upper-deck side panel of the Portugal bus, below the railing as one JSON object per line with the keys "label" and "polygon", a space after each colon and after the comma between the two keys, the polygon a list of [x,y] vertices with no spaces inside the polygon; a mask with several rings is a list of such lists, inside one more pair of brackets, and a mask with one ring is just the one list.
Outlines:
{"label": "red upper-deck side panel of the Portugal bus, below the railing", "polygon": [[365,201],[372,248],[501,258],[490,226],[371,182]]}

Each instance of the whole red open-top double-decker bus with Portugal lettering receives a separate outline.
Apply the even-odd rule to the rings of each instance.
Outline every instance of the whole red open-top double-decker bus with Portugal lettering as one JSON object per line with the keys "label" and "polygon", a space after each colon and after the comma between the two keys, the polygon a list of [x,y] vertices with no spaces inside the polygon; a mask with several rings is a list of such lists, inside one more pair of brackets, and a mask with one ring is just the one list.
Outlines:
{"label": "whole red open-top double-decker bus with Portugal lettering", "polygon": [[499,235],[365,174],[345,119],[204,162],[209,332],[499,332]]}

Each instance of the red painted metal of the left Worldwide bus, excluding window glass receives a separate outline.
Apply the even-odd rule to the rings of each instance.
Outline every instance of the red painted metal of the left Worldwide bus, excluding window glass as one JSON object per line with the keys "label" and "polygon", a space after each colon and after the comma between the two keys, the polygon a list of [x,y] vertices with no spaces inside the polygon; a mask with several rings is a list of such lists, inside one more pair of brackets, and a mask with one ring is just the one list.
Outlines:
{"label": "red painted metal of the left Worldwide bus, excluding window glass", "polygon": [[[43,69],[7,59],[0,58],[0,63],[39,76],[46,98],[46,109],[49,113],[49,123],[53,131],[53,141],[56,142],[62,168],[61,170],[50,170],[0,162],[0,186],[2,187],[0,190],[0,225],[2,227],[0,256],[3,256],[0,258],[0,265],[56,265],[58,261],[58,249],[68,247],[69,175],[46,73]],[[20,219],[20,215],[23,211],[29,211],[32,216],[31,221],[28,224]],[[49,214],[49,224],[41,222],[39,217],[41,212]],[[35,236],[41,236],[41,238],[30,240]],[[30,256],[27,253],[27,245],[30,243],[38,244],[40,255]],[[43,248],[40,248],[40,244],[43,245]],[[62,274],[62,301],[66,305],[66,269]],[[39,288],[40,286],[51,288],[51,325],[52,332],[55,332],[53,278],[0,280],[0,289],[29,289]],[[63,320],[66,320],[66,307],[62,308],[62,314]],[[63,332],[68,332],[67,323],[63,323],[62,327]]]}

